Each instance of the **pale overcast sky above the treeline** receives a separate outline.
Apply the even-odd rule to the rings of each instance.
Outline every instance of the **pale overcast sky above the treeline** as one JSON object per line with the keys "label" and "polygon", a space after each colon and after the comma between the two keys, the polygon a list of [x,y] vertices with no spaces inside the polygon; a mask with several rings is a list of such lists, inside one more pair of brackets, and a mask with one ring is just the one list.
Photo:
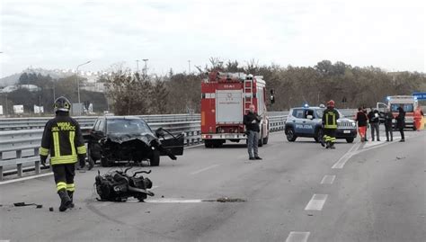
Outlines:
{"label": "pale overcast sky above the treeline", "polygon": [[193,72],[209,58],[282,67],[328,59],[426,72],[423,2],[0,0],[0,78],[89,60],[79,69],[136,70],[138,63],[141,70],[144,58],[157,75]]}

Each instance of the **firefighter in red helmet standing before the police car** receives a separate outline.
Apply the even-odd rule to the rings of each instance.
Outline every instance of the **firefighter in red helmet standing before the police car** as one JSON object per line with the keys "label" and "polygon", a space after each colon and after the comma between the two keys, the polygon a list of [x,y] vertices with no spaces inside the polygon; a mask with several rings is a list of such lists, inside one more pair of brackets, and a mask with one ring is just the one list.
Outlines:
{"label": "firefighter in red helmet standing before the police car", "polygon": [[[325,148],[335,148],[334,142],[336,141],[337,120],[339,119],[339,112],[334,109],[334,101],[330,100],[327,103],[327,109],[323,114],[323,127],[324,139],[321,145]],[[324,144],[325,142],[325,144]]]}

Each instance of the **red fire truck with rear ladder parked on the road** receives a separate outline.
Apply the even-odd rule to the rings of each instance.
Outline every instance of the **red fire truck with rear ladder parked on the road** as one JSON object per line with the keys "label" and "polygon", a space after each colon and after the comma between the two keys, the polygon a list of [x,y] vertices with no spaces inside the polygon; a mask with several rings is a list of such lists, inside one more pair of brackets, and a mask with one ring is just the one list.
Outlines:
{"label": "red fire truck with rear ladder parked on the road", "polygon": [[268,143],[266,100],[262,76],[209,73],[209,78],[201,84],[201,139],[206,148],[220,147],[226,140],[247,139],[243,117],[250,104],[254,104],[255,111],[262,117],[259,146]]}

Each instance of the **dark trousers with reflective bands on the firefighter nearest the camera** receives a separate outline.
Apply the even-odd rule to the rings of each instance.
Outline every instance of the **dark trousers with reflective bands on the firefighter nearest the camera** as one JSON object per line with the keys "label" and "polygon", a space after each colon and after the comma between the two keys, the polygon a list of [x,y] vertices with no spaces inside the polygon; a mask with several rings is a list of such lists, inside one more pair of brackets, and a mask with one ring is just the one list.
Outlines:
{"label": "dark trousers with reflective bands on the firefighter nearest the camera", "polygon": [[57,184],[57,191],[67,190],[68,192],[74,192],[75,164],[53,165],[52,170]]}

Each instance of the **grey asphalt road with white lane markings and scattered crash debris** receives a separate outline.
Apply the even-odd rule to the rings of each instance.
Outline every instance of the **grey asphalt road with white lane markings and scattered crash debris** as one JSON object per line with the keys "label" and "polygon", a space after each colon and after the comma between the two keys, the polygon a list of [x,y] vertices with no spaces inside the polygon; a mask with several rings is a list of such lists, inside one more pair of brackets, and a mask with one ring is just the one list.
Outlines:
{"label": "grey asphalt road with white lane markings and scattered crash debris", "polygon": [[[145,167],[155,193],[146,202],[96,201],[94,176],[108,169],[95,167],[77,172],[76,207],[66,212],[52,175],[6,181],[0,240],[424,241],[426,131],[405,135],[404,143],[338,140],[329,150],[273,133],[262,161],[249,161],[242,145],[187,148]],[[240,200],[201,202],[225,197]]]}

